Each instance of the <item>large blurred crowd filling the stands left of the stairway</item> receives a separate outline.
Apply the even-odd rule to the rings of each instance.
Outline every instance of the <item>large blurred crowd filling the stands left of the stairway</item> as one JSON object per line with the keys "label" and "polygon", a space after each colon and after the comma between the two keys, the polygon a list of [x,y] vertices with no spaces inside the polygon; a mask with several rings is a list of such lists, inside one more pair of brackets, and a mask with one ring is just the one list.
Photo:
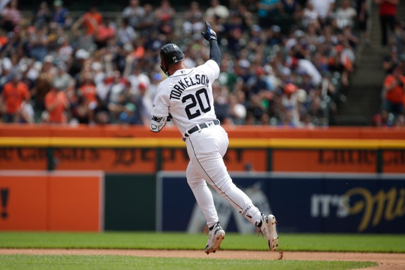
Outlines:
{"label": "large blurred crowd filling the stands left of the stairway", "polygon": [[213,85],[221,122],[331,125],[366,17],[365,0],[341,3],[233,0],[225,7],[211,0],[207,9],[191,2],[180,15],[168,0],[156,7],[130,0],[117,18],[103,17],[95,6],[72,18],[55,0],[27,18],[11,0],[0,6],[2,119],[149,125],[166,76],[160,48],[177,43],[187,67],[204,63],[209,46],[200,32],[208,20],[222,51]]}

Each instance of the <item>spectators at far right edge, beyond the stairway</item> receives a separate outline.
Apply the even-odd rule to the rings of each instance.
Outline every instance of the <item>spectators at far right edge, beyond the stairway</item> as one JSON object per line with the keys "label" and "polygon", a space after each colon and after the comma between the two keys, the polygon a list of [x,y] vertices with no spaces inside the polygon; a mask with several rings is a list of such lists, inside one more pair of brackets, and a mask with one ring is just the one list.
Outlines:
{"label": "spectators at far right edge, beyond the stairway", "polygon": [[[382,85],[381,112],[374,116],[375,126],[405,127],[405,23],[396,17],[399,1],[380,1],[381,45],[389,47],[383,61],[386,76]],[[399,20],[402,19],[402,20]]]}

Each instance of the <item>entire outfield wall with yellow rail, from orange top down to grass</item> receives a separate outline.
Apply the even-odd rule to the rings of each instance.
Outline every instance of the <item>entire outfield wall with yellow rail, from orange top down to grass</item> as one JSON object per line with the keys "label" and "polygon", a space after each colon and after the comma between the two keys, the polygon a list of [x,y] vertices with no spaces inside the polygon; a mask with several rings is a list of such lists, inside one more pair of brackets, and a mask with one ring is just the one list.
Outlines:
{"label": "entire outfield wall with yellow rail, from orange top down to grass", "polygon": [[[405,129],[225,128],[228,170],[250,171],[235,182],[281,232],[405,233]],[[199,232],[187,163],[173,127],[0,124],[0,230]],[[217,203],[227,230],[252,231]]]}

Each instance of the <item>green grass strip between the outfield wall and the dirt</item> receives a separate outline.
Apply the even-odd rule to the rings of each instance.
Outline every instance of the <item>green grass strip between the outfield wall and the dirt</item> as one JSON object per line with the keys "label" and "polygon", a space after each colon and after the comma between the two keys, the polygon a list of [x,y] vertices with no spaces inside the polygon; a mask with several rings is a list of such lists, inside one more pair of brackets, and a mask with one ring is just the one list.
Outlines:
{"label": "green grass strip between the outfield wall and the dirt", "polygon": [[[280,234],[278,250],[405,253],[405,235]],[[203,249],[204,234],[182,233],[0,233],[0,248]],[[268,250],[255,235],[228,233],[223,250]]]}

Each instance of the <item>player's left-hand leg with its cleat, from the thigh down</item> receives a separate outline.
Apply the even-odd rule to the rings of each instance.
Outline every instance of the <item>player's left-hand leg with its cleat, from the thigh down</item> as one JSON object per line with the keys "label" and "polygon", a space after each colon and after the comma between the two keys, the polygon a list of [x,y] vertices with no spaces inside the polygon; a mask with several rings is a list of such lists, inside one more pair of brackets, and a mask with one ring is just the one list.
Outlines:
{"label": "player's left-hand leg with its cleat, from the thigh down", "polygon": [[225,230],[219,224],[211,191],[207,186],[207,182],[198,174],[191,162],[188,163],[186,177],[195,200],[207,219],[208,241],[204,251],[207,254],[215,253],[225,238]]}

